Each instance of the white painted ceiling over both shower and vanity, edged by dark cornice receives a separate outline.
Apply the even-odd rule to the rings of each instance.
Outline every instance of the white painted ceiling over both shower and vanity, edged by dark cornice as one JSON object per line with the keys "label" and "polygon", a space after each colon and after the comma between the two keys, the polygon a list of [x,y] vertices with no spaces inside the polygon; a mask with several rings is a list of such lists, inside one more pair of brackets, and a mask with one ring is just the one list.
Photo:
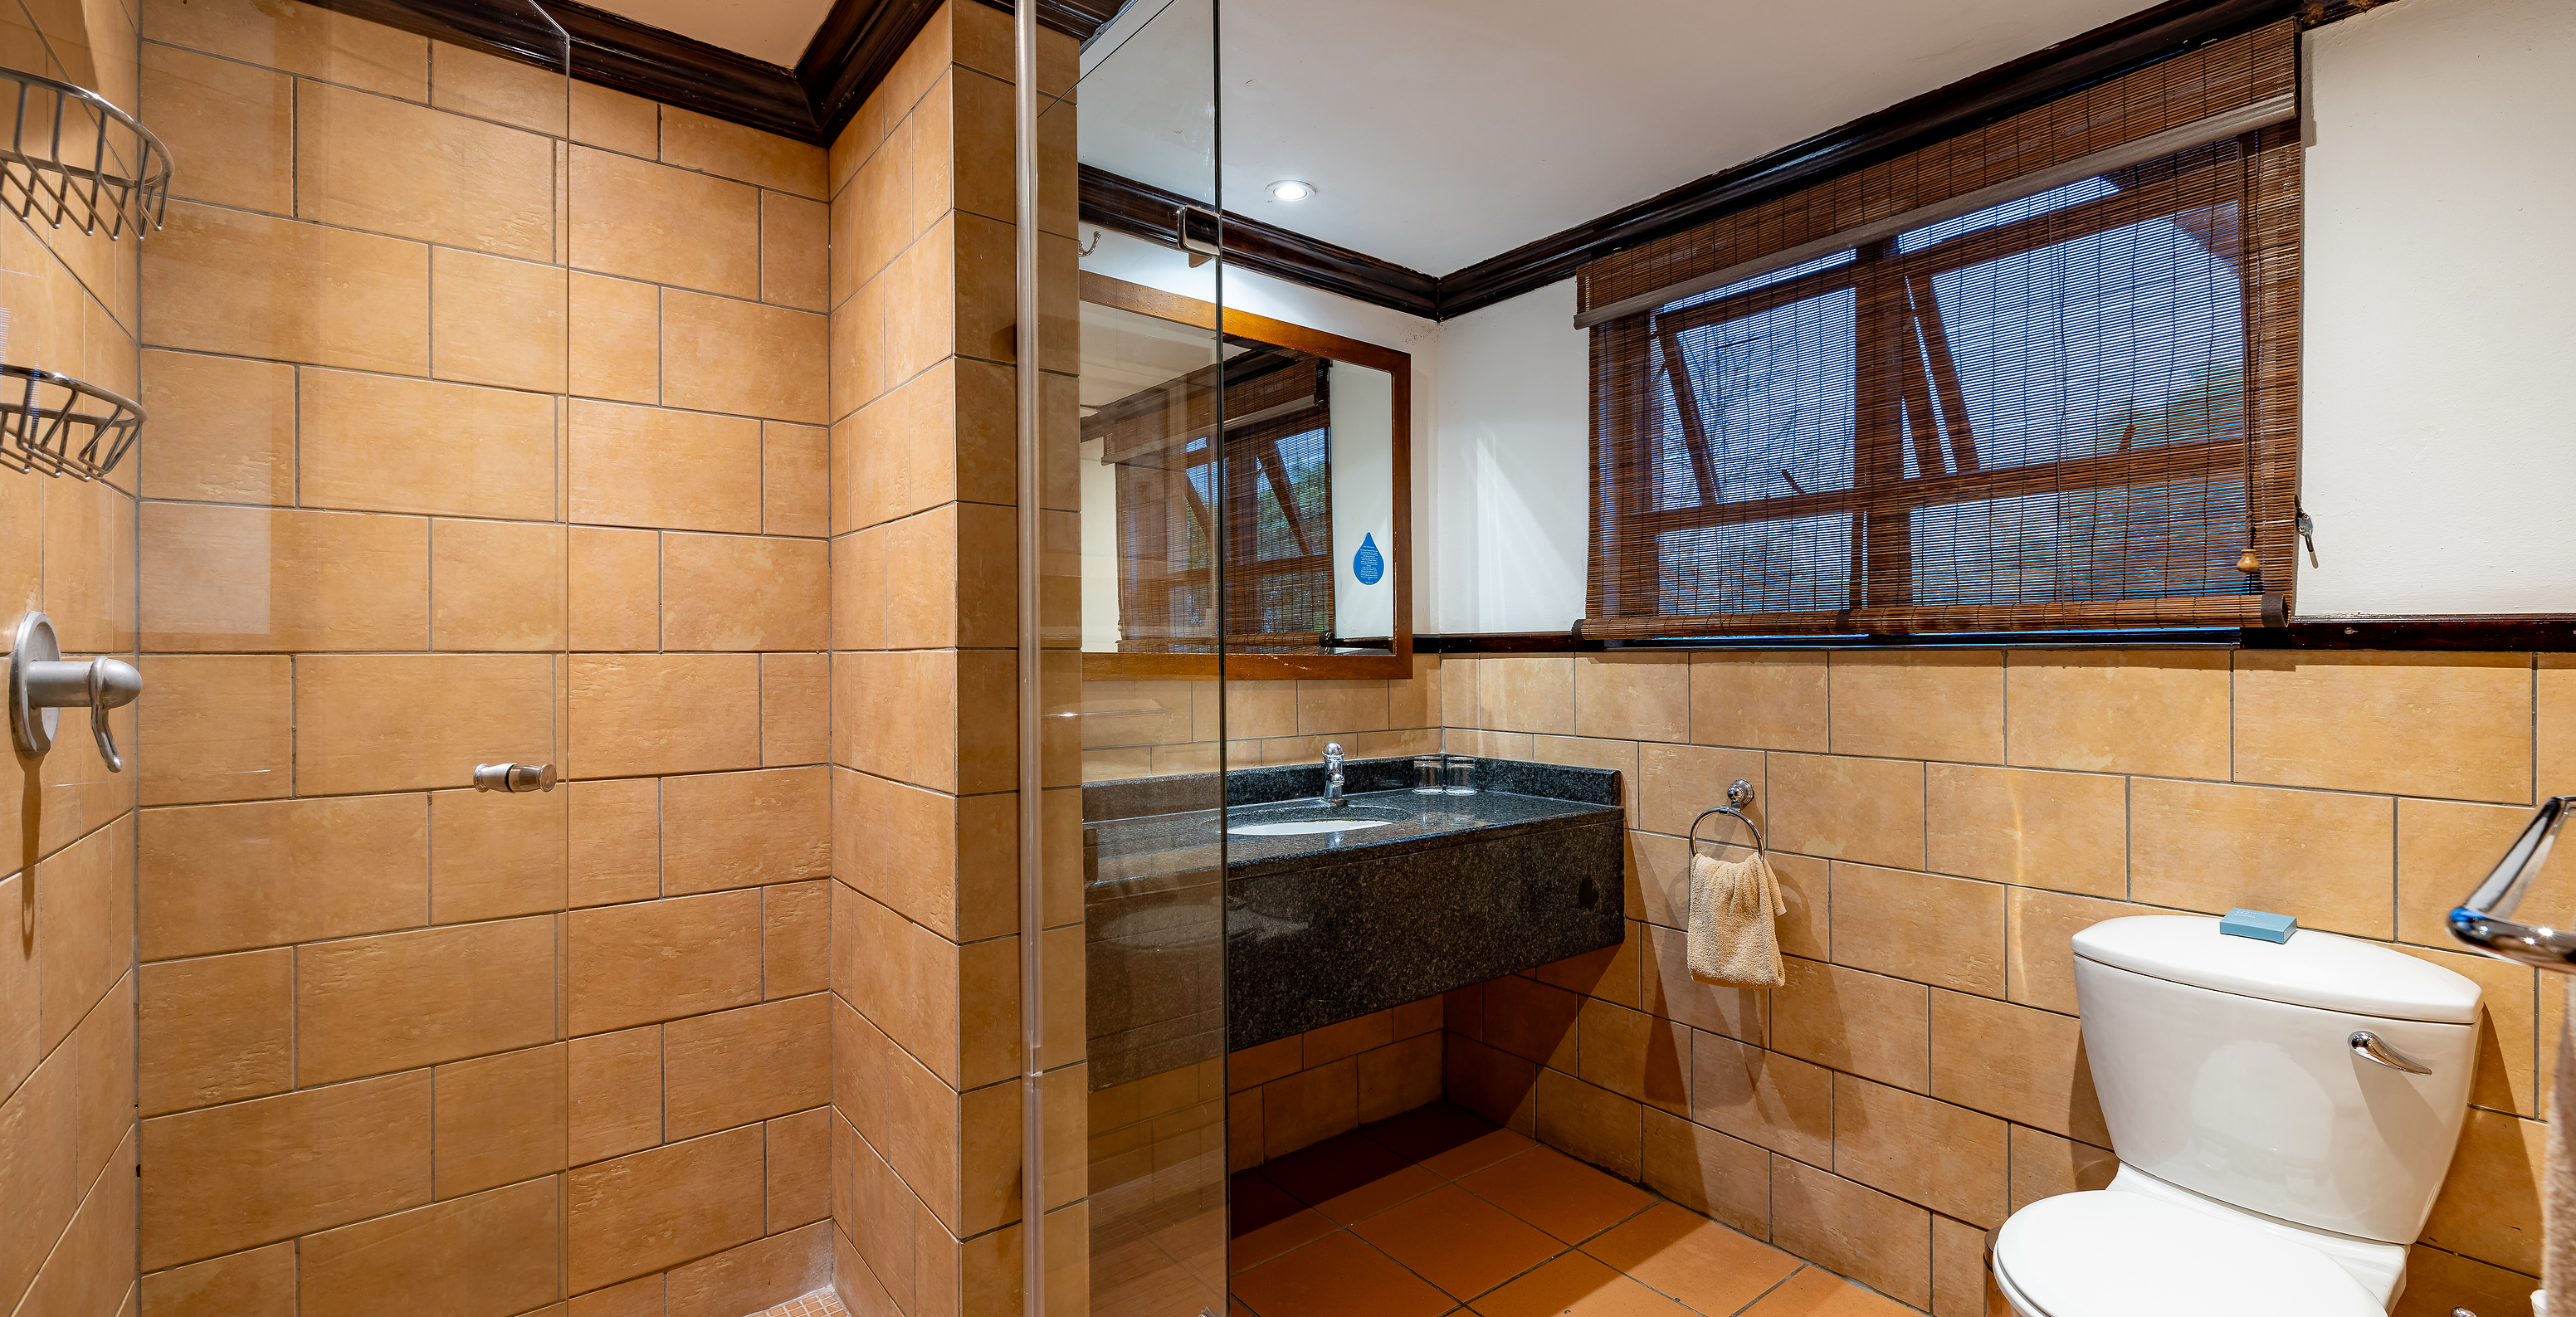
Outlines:
{"label": "white painted ceiling over both shower and vanity, edged by dark cornice", "polygon": [[[605,3],[788,67],[829,8]],[[1226,209],[1437,276],[2138,8],[1133,0],[1084,52],[1082,160],[1206,198],[1213,49]],[[1316,193],[1273,201],[1283,178]]]}

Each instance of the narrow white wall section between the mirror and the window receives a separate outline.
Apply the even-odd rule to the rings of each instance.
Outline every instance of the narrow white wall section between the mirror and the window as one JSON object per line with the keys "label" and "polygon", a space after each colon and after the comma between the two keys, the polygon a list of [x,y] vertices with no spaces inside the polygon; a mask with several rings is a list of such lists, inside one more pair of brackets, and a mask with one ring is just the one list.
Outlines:
{"label": "narrow white wall section between the mirror and the window", "polygon": [[1589,379],[1571,278],[1440,325],[1425,631],[1564,631],[1584,616]]}

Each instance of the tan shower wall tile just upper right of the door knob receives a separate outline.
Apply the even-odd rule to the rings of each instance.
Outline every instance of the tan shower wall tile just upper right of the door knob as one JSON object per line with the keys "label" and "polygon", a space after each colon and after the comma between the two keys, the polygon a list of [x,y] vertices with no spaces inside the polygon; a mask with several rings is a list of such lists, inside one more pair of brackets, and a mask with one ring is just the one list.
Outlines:
{"label": "tan shower wall tile just upper right of the door knob", "polygon": [[572,655],[569,683],[577,776],[760,765],[757,655]]}

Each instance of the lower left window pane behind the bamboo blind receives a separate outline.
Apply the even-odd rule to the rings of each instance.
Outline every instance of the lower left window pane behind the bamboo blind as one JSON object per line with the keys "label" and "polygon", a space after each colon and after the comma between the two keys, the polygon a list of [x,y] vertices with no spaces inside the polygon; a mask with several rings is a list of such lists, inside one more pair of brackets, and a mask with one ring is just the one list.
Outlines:
{"label": "lower left window pane behind the bamboo blind", "polygon": [[1654,536],[1659,613],[1808,613],[1852,603],[1850,513]]}

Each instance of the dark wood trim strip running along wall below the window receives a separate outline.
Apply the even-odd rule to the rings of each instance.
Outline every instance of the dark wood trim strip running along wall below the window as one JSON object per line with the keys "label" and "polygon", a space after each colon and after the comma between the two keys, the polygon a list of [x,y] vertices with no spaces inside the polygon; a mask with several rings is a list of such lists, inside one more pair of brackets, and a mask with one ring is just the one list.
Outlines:
{"label": "dark wood trim strip running along wall below the window", "polygon": [[2416,649],[2416,652],[2576,652],[2576,613],[2324,616],[2287,626],[1991,631],[1893,637],[1741,637],[1741,639],[1579,639],[1566,631],[1473,631],[1414,637],[1417,655],[1589,655],[1602,649],[2069,649],[2069,647],[2228,647],[2228,649]]}

